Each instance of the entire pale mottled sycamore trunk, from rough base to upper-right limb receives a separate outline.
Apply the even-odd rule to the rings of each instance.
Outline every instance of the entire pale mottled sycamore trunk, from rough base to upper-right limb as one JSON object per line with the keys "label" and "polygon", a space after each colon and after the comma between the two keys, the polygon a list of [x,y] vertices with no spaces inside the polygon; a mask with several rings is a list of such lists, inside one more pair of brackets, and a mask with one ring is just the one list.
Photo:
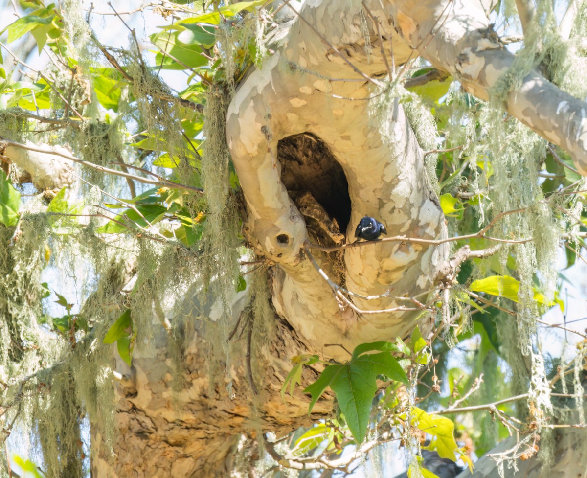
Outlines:
{"label": "entire pale mottled sycamore trunk, from rough base to upper-right limb", "polygon": [[[365,215],[382,221],[390,235],[446,238],[423,151],[397,101],[382,103],[383,110],[373,106],[377,95],[384,95],[383,83],[373,78],[393,76],[408,59],[423,55],[487,99],[514,58],[489,27],[487,2],[366,0],[365,6],[350,0],[306,2],[301,17],[294,15],[274,32],[273,53],[239,85],[228,110],[227,142],[246,203],[245,237],[272,264],[276,314],[268,339],[252,344],[256,366],[247,365],[251,346],[245,332],[239,346],[231,348],[230,363],[222,364],[227,366],[224,378],[211,382],[208,371],[215,368],[207,336],[218,328],[213,319],[206,326],[198,319],[210,315],[210,305],[195,305],[185,324],[188,345],[181,353],[187,385],[180,392],[171,392],[174,372],[163,331],[137,349],[131,368],[117,363],[120,435],[110,457],[102,424],[92,423],[94,476],[227,476],[241,433],[259,439],[263,430],[285,434],[309,423],[308,398],[301,388],[287,403],[279,394],[292,356],[309,352],[348,359],[342,347],[328,345],[351,350],[363,342],[405,338],[420,311],[402,298],[426,301],[438,287],[437,274],[448,260],[446,245],[384,242],[348,248],[342,259],[310,248],[323,271],[339,277],[346,289],[380,296],[353,297],[362,313],[340,302],[304,252],[305,244],[316,240],[306,211],[312,207],[299,203],[300,197],[308,200],[301,189],[311,178],[285,180],[293,166],[284,144],[296,135],[323,142],[342,169],[348,190],[327,184],[324,176],[333,197],[350,203],[346,223],[339,224],[343,230],[330,231],[333,241],[341,233],[347,242],[354,240],[355,226]],[[383,45],[370,18],[379,22]],[[393,59],[389,70],[380,48],[390,63]],[[578,169],[587,172],[584,103],[529,72],[504,106],[567,150]],[[301,169],[308,169],[311,160],[299,159]],[[313,210],[323,214],[319,206]],[[235,299],[234,306],[235,323],[246,300]],[[380,309],[394,310],[369,313]],[[429,322],[420,319],[424,329]],[[317,376],[310,369],[304,373],[303,383]],[[315,417],[328,414],[330,405],[329,398],[319,401]]]}

